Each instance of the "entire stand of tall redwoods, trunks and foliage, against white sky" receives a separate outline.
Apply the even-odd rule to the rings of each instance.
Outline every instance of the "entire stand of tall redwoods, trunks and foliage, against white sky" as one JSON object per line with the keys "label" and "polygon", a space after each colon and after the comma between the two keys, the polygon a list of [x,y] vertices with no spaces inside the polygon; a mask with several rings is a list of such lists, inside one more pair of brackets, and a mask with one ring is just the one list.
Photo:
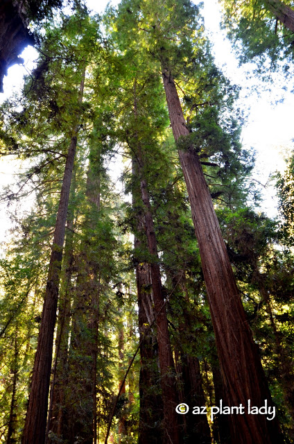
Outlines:
{"label": "entire stand of tall redwoods, trunks and foliage, against white sky", "polygon": [[[277,5],[225,1],[243,60],[291,60]],[[293,161],[270,219],[200,7],[26,6],[37,65],[0,108],[22,165],[1,191],[0,443],[293,442]]]}

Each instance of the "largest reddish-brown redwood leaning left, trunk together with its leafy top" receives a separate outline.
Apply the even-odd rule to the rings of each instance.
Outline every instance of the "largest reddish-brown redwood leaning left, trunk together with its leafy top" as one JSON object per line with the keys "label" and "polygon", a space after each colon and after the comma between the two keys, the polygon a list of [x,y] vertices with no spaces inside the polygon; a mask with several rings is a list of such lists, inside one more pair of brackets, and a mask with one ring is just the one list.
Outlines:
{"label": "largest reddish-brown redwood leaning left, trunk together with its leafy top", "polygon": [[[248,400],[251,400],[252,405],[261,407],[267,400],[268,404],[273,406],[258,348],[252,338],[202,172],[198,156],[201,147],[191,140],[173,79],[173,76],[191,76],[187,79],[189,89],[199,87],[197,73],[201,68],[205,69],[203,60],[205,56],[209,57],[209,51],[205,43],[203,44],[205,40],[201,24],[197,23],[200,21],[198,10],[190,2],[182,1],[175,4],[165,1],[157,3],[156,6],[152,2],[146,2],[139,8],[135,2],[124,1],[121,3],[121,15],[125,20],[128,15],[131,17],[129,20],[136,30],[137,41],[138,36],[141,38],[141,48],[147,48],[151,58],[158,60],[161,65],[171,128],[178,143],[180,163],[198,239],[226,402],[230,406],[242,404],[246,407]],[[128,38],[131,35],[131,31],[128,31]],[[195,42],[200,45],[200,39],[202,48],[198,49]],[[204,93],[205,89],[207,85],[203,89]],[[207,99],[205,94],[203,99]],[[192,102],[192,105],[194,103]],[[207,103],[211,105],[209,99]],[[198,106],[199,104],[195,103],[193,108],[197,110]],[[209,147],[209,139],[207,142]],[[230,423],[234,443],[282,443],[277,418],[268,421],[261,414],[248,414],[245,408],[244,415],[230,416]]]}

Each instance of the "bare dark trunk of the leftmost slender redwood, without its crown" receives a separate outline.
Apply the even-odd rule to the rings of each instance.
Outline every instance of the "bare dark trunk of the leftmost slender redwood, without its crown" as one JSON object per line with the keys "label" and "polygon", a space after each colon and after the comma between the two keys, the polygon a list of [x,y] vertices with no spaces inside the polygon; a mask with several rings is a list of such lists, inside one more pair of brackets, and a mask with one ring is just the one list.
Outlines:
{"label": "bare dark trunk of the leftmost slender redwood, without its crown", "polygon": [[[85,70],[80,83],[78,101],[83,100],[85,82]],[[46,417],[48,407],[49,384],[52,363],[53,334],[56,321],[56,309],[58,305],[58,287],[60,283],[60,270],[62,262],[62,248],[64,242],[65,223],[67,221],[67,207],[69,203],[69,190],[71,176],[76,155],[78,125],[74,128],[71,144],[67,154],[60,203],[55,223],[53,246],[49,264],[49,274],[46,284],[42,320],[38,336],[37,352],[33,368],[26,423],[21,439],[22,444],[43,444],[45,441]]]}

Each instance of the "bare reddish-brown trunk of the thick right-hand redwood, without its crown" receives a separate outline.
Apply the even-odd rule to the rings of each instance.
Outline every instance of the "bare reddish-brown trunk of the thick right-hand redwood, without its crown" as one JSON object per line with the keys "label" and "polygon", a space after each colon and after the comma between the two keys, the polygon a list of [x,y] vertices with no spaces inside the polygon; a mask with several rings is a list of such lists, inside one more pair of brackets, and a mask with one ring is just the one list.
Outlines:
{"label": "bare reddish-brown trunk of the thick right-hand redwood, without its crown", "polygon": [[[178,141],[180,137],[189,137],[189,130],[171,71],[163,66],[162,74],[173,136]],[[231,407],[238,407],[240,404],[245,407],[243,415],[230,415],[232,443],[282,443],[277,416],[273,420],[266,420],[266,415],[248,413],[248,400],[251,400],[252,406],[257,407],[263,407],[265,400],[272,407],[273,401],[199,157],[193,146],[185,150],[179,149],[179,157],[198,239],[226,402]]]}

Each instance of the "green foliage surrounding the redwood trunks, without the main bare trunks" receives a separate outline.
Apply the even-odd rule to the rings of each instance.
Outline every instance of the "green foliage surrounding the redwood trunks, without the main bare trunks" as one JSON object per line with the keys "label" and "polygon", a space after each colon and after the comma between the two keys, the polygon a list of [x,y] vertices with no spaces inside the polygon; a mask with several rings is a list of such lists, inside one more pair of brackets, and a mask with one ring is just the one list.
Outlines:
{"label": "green foliage surrounding the redwood trunks, without the main bare trunks", "polygon": [[[46,15],[52,6],[49,3],[42,3],[35,13]],[[59,1],[54,5],[59,6]],[[233,7],[232,2],[230,5]],[[277,28],[275,46],[266,40],[273,20],[266,18],[265,11],[262,15],[252,13],[250,2],[239,6],[248,15],[247,22],[241,19],[242,35],[247,32],[251,39],[255,28],[248,28],[248,24],[262,24],[245,56],[251,57],[258,48],[259,54],[266,49],[271,58],[282,57],[276,45],[277,37],[286,44],[282,28]],[[257,6],[259,3],[254,3],[254,8]],[[239,17],[231,16],[232,20]],[[287,407],[291,389],[281,377],[279,357],[291,379],[293,255],[285,244],[291,247],[293,241],[293,162],[277,185],[285,219],[283,231],[276,221],[246,207],[248,194],[256,193],[250,181],[254,155],[240,142],[243,116],[234,105],[239,89],[214,64],[198,6],[180,0],[123,0],[117,10],[107,8],[103,33],[101,19],[89,17],[83,6],[77,6],[69,17],[60,13],[58,21],[55,26],[44,26],[38,65],[26,78],[22,96],[1,107],[1,153],[24,161],[25,169],[2,195],[13,207],[14,236],[6,248],[6,259],[0,262],[0,355],[5,362],[0,378],[0,439],[7,435],[16,374],[15,439],[23,425],[60,182],[69,142],[76,133],[78,153],[60,275],[49,442],[83,439],[92,443],[94,391],[99,433],[105,434],[119,384],[139,341],[134,268],[143,262],[159,261],[163,297],[170,298],[166,309],[177,365],[188,357],[200,361],[205,402],[213,402],[211,375],[218,367],[214,334],[177,153],[191,146],[202,163],[248,321],[282,409],[284,427],[292,436],[291,409]],[[288,56],[291,54],[289,49]],[[84,69],[85,94],[80,103]],[[171,71],[175,78],[190,131],[177,146],[168,127],[162,69]],[[107,172],[116,152],[128,162],[122,175],[124,202]],[[148,189],[159,259],[149,253],[146,232],[140,225],[146,215],[140,189],[143,182]],[[34,198],[33,206],[14,214],[14,205],[18,207],[29,194]],[[132,235],[140,244],[136,249]],[[152,305],[152,283],[144,291]],[[148,347],[155,349],[156,356],[154,337],[146,350]],[[160,400],[157,359],[148,366],[156,380],[148,386],[147,396]],[[183,390],[184,376],[179,368],[179,390]],[[125,425],[121,443],[137,442],[139,371],[137,358],[112,427],[114,439],[118,439],[119,426]],[[157,413],[158,424],[150,427],[159,427],[162,412]],[[56,418],[61,418],[62,433]]]}

